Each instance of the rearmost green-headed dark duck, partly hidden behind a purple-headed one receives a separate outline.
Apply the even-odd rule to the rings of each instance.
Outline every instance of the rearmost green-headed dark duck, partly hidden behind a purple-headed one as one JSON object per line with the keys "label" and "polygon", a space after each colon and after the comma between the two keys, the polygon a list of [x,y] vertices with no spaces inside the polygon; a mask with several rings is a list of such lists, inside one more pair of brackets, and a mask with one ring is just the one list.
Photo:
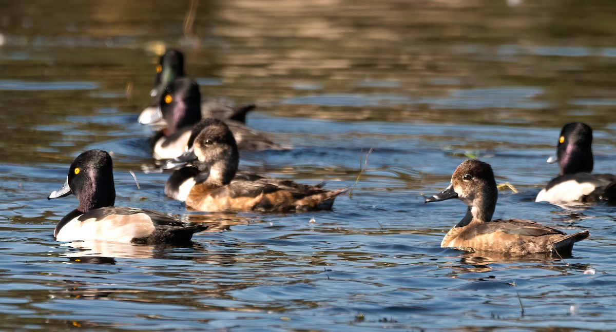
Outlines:
{"label": "rearmost green-headed dark duck, partly hidden behind a purple-headed one", "polygon": [[[139,123],[147,124],[152,123],[152,119],[156,116],[156,111],[160,105],[160,95],[163,94],[165,88],[176,78],[183,78],[186,74],[184,72],[184,54],[176,49],[168,49],[163,55],[160,56],[156,63],[156,80],[154,82],[154,88],[150,91],[150,95],[155,97],[155,103],[150,105],[141,112],[139,115]],[[240,107],[233,107],[225,103],[219,102],[213,98],[201,99],[201,112],[203,117],[214,117],[217,119],[230,119],[241,123],[246,123],[246,114],[254,110],[256,105],[254,103],[248,103]],[[162,121],[159,119],[159,121]],[[159,124],[164,126],[163,123]]]}

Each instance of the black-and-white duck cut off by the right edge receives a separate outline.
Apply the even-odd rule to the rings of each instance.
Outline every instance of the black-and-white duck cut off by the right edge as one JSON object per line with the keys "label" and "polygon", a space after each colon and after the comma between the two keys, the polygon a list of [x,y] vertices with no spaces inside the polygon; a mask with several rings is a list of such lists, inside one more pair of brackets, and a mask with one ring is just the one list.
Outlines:
{"label": "black-and-white duck cut off by the right edge", "polygon": [[588,124],[573,122],[562,127],[556,145],[559,173],[537,194],[535,201],[571,203],[616,201],[616,176],[591,174],[593,171],[593,129]]}

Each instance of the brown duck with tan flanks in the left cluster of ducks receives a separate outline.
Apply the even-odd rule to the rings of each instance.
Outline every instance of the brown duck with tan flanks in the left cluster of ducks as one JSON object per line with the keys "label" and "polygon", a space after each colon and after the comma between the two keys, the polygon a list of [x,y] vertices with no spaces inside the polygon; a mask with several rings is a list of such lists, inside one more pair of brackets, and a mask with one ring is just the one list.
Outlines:
{"label": "brown duck with tan flanks in the left cluster of ducks", "polygon": [[[331,209],[346,188],[326,190],[323,183],[298,184],[273,177],[237,177],[239,152],[227,124],[206,118],[193,128],[190,149],[174,160],[175,164],[194,162],[192,183],[185,194],[188,208],[197,211],[302,212]],[[177,170],[174,174],[182,169]],[[185,170],[184,170],[185,171]],[[167,187],[171,185],[171,176]]]}

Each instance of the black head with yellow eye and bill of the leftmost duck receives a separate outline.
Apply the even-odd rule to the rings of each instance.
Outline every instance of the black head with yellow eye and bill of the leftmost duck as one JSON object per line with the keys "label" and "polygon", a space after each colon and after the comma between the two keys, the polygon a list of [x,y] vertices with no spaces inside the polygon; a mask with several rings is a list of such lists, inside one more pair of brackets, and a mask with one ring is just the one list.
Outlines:
{"label": "black head with yellow eye and bill of the leftmost duck", "polygon": [[68,169],[65,184],[60,190],[52,192],[48,199],[64,197],[70,193],[77,196],[77,209],[82,213],[103,206],[113,206],[115,186],[111,156],[102,150],[81,153]]}

